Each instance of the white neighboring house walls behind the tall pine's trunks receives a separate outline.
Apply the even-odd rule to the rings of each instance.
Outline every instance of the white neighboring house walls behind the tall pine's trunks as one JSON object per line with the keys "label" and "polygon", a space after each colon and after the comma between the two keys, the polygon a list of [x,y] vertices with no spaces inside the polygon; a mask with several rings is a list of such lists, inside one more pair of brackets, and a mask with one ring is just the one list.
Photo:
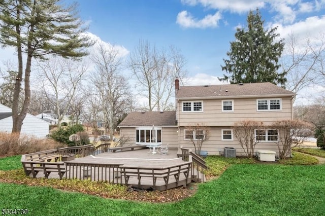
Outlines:
{"label": "white neighboring house walls behind the tall pine's trunks", "polygon": [[[0,104],[0,131],[10,133],[12,125],[11,108]],[[21,134],[45,138],[49,134],[49,123],[27,113],[21,127]]]}

